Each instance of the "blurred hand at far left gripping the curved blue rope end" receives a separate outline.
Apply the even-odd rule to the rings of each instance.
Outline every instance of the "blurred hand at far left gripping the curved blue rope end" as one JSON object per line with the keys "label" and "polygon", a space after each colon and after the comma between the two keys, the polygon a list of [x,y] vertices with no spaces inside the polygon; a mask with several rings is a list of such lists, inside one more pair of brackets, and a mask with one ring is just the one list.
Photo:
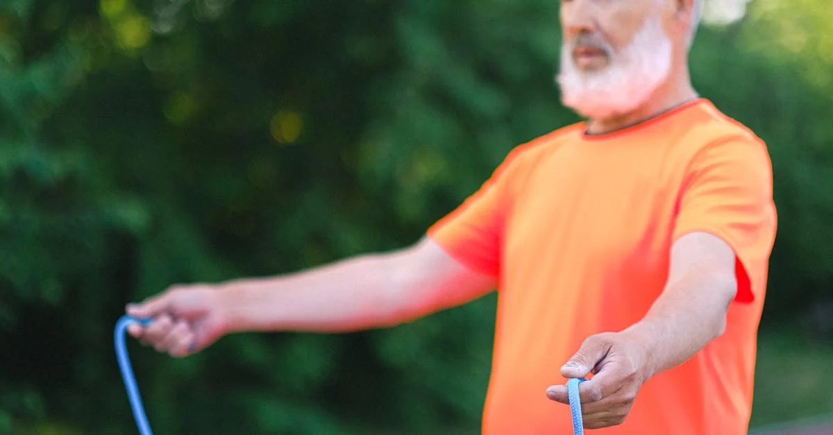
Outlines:
{"label": "blurred hand at far left gripping the curved blue rope end", "polygon": [[144,345],[172,357],[185,357],[207,348],[227,333],[227,314],[217,286],[175,286],[142,303],[127,305],[127,314],[152,318],[142,327],[133,323],[127,333]]}

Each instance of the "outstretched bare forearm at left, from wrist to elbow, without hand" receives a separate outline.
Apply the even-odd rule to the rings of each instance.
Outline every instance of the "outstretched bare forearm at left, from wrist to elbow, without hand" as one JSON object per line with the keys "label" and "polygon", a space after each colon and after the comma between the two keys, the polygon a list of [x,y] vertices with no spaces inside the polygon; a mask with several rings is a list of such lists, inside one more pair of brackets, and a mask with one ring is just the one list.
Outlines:
{"label": "outstretched bare forearm at left, from wrist to elbow, without hand", "polygon": [[366,255],[277,278],[222,285],[229,332],[344,332],[402,322],[396,255]]}

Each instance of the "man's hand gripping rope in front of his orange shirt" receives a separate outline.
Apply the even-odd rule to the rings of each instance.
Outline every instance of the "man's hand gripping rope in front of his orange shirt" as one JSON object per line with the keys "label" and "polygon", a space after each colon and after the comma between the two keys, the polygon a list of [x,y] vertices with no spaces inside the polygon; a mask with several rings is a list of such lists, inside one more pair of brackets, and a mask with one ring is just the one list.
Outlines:
{"label": "man's hand gripping rope in front of his orange shirt", "polygon": [[[586,378],[581,383],[581,414],[586,429],[616,426],[625,421],[642,383],[650,377],[648,358],[641,343],[627,332],[601,333],[587,338],[561,368],[565,378]],[[570,404],[566,385],[546,389],[546,397]]]}

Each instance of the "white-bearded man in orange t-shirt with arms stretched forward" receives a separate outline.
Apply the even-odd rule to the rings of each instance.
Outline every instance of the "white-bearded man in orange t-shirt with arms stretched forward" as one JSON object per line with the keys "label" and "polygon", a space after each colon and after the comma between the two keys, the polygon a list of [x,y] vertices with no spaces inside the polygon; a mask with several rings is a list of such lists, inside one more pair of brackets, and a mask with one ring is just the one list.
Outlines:
{"label": "white-bearded man in orange t-shirt with arms stretched forward", "polygon": [[691,87],[696,0],[561,0],[563,102],[586,122],[513,150],[410,248],[179,286],[127,312],[173,356],[241,331],[408,322],[497,288],[483,433],[746,433],[776,232],[754,133]]}

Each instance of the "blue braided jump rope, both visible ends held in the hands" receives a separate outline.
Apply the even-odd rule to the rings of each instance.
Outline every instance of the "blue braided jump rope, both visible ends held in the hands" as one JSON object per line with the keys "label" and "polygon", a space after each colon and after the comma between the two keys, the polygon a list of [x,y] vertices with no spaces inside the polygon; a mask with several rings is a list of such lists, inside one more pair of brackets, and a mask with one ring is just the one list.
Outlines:
{"label": "blue braided jump rope, both visible ends held in the hands", "polygon": [[[136,426],[139,428],[141,435],[153,435],[151,426],[147,423],[147,415],[145,415],[145,408],[142,406],[142,397],[139,395],[139,388],[136,386],[136,377],[133,376],[133,368],[130,365],[130,358],[127,357],[127,345],[124,343],[124,336],[127,333],[127,327],[131,323],[139,323],[142,326],[150,325],[152,319],[134,318],[132,316],[122,316],[116,323],[115,341],[116,341],[116,359],[118,360],[118,367],[122,370],[122,379],[124,379],[124,387],[127,388],[127,398],[130,399],[130,407],[133,409],[133,417],[136,418]],[[578,395],[578,384],[584,379],[572,378],[567,381],[567,393],[570,397],[570,411],[573,418],[573,434],[584,434],[584,423],[581,421],[581,400]]]}

